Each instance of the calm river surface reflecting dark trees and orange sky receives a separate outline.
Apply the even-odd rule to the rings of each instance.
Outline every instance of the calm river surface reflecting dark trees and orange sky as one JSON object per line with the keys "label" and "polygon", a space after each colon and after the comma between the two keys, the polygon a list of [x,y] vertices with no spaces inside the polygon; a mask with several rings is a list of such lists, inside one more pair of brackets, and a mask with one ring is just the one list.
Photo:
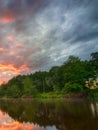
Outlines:
{"label": "calm river surface reflecting dark trees and orange sky", "polygon": [[98,130],[98,103],[1,100],[0,130]]}

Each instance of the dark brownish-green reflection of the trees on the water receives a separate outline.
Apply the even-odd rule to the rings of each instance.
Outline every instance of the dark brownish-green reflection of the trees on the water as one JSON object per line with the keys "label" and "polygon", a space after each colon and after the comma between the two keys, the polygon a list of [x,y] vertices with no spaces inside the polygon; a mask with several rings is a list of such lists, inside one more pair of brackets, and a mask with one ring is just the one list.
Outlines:
{"label": "dark brownish-green reflection of the trees on the water", "polygon": [[[96,130],[88,103],[64,101],[1,101],[0,108],[20,122],[56,126],[57,130]],[[95,128],[95,129],[94,129]]]}

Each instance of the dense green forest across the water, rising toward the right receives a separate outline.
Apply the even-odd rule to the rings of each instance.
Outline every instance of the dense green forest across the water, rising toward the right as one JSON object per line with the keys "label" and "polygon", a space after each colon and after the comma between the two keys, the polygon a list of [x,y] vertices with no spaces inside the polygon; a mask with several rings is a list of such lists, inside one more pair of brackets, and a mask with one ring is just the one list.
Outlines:
{"label": "dense green forest across the water, rising toward the right", "polygon": [[[18,75],[7,84],[2,84],[0,97],[40,97],[47,94],[55,97],[54,95],[64,96],[71,93],[87,95],[93,90],[98,95],[97,78],[98,52],[91,53],[89,60],[69,56],[63,65],[54,66],[48,72],[39,71],[30,75]],[[92,82],[89,82],[90,80]],[[95,89],[90,89],[92,86]]]}

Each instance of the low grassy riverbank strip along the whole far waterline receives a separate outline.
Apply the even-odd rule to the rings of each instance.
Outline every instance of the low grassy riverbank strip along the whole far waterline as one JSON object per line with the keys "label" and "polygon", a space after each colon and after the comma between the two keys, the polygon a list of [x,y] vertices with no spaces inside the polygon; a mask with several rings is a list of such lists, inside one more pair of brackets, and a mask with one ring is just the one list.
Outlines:
{"label": "low grassy riverbank strip along the whole far waterline", "polygon": [[20,97],[13,96],[2,96],[1,99],[93,99],[98,98],[98,92],[95,90],[81,91],[81,92],[70,92],[70,93],[61,93],[61,92],[48,92],[48,93],[38,93],[32,96],[22,95]]}

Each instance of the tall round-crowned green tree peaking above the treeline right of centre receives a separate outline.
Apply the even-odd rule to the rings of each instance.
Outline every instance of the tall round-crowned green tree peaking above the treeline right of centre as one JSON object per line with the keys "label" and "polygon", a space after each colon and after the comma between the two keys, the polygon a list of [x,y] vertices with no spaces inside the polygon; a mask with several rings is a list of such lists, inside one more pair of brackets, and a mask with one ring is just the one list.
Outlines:
{"label": "tall round-crowned green tree peaking above the treeline right of centre", "polygon": [[85,84],[85,80],[88,77],[88,72],[86,71],[86,66],[84,61],[80,61],[78,57],[71,56],[60,67],[61,81],[64,86],[65,83],[73,82],[81,85]]}

